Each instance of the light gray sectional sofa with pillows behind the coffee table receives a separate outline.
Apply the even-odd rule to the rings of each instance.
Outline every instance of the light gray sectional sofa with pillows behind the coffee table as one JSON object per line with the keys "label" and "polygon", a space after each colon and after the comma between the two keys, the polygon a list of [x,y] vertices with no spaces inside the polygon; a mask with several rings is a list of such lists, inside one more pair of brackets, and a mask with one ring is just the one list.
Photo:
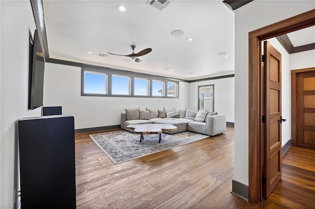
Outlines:
{"label": "light gray sectional sofa with pillows behind the coffee table", "polygon": [[176,131],[163,131],[169,134],[183,131],[192,131],[206,135],[217,135],[226,131],[225,115],[218,115],[216,112],[199,110],[198,112],[189,109],[177,110],[175,107],[162,110],[140,110],[140,108],[126,109],[121,113],[121,128],[127,129],[128,125],[157,123],[172,124],[177,127]]}

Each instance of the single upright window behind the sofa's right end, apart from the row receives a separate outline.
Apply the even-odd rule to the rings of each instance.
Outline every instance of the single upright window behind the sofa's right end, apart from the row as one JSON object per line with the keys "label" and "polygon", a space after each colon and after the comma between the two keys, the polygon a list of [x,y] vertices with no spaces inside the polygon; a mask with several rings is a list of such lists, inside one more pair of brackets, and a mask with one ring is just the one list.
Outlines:
{"label": "single upright window behind the sofa's right end, apart from the row", "polygon": [[198,86],[198,110],[206,109],[209,111],[214,111],[214,89],[214,84]]}

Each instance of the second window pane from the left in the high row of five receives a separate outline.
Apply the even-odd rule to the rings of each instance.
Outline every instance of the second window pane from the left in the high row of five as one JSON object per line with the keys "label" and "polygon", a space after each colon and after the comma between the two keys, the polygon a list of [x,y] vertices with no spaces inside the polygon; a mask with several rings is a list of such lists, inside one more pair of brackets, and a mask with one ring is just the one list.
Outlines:
{"label": "second window pane from the left in the high row of five", "polygon": [[130,95],[130,77],[113,75],[112,94]]}

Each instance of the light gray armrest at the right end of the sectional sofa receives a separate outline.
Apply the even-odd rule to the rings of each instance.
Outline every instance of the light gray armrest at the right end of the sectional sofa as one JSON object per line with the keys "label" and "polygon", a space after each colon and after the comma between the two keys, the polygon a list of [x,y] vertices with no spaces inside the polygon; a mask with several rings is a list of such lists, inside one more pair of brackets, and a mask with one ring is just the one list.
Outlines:
{"label": "light gray armrest at the right end of the sectional sofa", "polygon": [[225,115],[210,115],[206,117],[207,135],[217,135],[226,131]]}

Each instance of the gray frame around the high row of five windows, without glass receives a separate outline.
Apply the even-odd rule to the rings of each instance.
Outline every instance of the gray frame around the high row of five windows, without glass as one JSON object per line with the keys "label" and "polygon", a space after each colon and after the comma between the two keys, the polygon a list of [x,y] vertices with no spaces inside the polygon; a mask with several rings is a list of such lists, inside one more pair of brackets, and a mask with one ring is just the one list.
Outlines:
{"label": "gray frame around the high row of five windows, without glass", "polygon": [[[105,68],[102,69],[93,69],[93,68],[81,68],[81,96],[92,96],[92,97],[139,97],[139,98],[172,98],[172,99],[179,99],[179,81],[176,79],[167,79],[167,78],[159,78],[158,76],[137,73],[137,72],[130,72],[126,71],[122,72],[123,70],[112,69],[112,68]],[[91,72],[91,73],[99,73],[107,75],[107,94],[86,94],[84,93],[84,73]],[[129,95],[122,95],[122,94],[112,94],[112,76],[122,76],[122,77],[129,77]],[[148,80],[148,96],[145,95],[134,95],[134,79],[146,79]],[[152,85],[153,81],[161,81],[163,83],[163,96],[153,96],[152,95]],[[174,82],[176,83],[176,97],[167,96],[167,82]]]}

